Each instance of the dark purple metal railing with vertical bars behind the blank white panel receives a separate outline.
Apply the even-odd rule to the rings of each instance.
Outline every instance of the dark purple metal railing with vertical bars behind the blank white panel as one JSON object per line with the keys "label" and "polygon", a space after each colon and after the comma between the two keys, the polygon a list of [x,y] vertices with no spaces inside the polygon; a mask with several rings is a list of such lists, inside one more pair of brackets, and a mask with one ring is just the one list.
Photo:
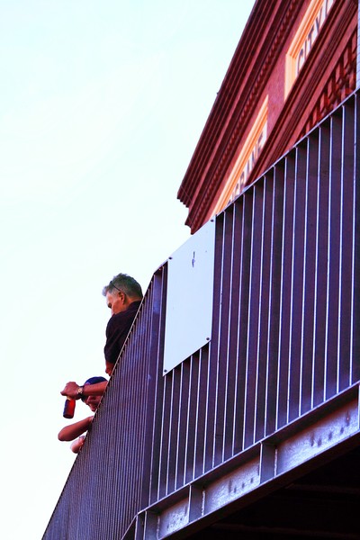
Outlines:
{"label": "dark purple metal railing with vertical bars behind the blank white panel", "polygon": [[231,500],[268,480],[264,441],[356,387],[359,133],[355,93],[216,217],[211,341],[165,376],[153,276],[44,540],[171,536],[218,508],[204,486],[248,455]]}

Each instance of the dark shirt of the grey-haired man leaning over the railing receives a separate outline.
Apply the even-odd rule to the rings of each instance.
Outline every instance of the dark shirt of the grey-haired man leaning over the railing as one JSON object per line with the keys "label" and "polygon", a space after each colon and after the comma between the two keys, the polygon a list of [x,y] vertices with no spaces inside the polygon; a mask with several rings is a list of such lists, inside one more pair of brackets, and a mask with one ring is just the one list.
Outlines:
{"label": "dark shirt of the grey-haired man leaning over the railing", "polygon": [[112,315],[106,327],[106,343],[103,347],[106,362],[115,364],[129,334],[132,321],[139,310],[140,301],[131,302],[126,311]]}

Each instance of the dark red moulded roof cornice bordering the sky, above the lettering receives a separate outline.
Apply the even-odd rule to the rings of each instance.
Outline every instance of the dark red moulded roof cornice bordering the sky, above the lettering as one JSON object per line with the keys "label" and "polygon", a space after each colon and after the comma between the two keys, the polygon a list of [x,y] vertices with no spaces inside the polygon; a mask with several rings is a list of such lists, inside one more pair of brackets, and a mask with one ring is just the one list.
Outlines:
{"label": "dark red moulded roof cornice bordering the sky, above the lettering", "polygon": [[299,0],[258,0],[253,8],[178,191],[193,232],[208,212],[301,7]]}

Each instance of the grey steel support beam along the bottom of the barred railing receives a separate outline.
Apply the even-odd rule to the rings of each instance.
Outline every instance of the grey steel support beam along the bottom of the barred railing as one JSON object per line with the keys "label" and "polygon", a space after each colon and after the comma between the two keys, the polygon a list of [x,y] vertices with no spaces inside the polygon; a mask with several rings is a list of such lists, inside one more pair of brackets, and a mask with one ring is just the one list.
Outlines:
{"label": "grey steel support beam along the bottom of the barred railing", "polygon": [[356,446],[359,437],[359,396],[353,387],[205,474],[202,487],[198,479],[196,485],[190,483],[142,512],[138,520],[151,525],[136,538],[186,537],[192,529],[199,530],[310,472],[319,458],[324,463],[327,453],[341,455],[344,447]]}

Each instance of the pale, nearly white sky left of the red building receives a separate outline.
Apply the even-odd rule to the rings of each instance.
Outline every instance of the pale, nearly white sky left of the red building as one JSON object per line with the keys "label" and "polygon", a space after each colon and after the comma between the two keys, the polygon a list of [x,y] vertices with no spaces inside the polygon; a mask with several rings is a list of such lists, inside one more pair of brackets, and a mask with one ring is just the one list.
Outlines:
{"label": "pale, nearly white sky left of the red building", "polygon": [[59,392],[103,374],[103,285],[145,292],[189,237],[177,189],[253,4],[0,0],[5,540],[41,538],[76,458]]}

